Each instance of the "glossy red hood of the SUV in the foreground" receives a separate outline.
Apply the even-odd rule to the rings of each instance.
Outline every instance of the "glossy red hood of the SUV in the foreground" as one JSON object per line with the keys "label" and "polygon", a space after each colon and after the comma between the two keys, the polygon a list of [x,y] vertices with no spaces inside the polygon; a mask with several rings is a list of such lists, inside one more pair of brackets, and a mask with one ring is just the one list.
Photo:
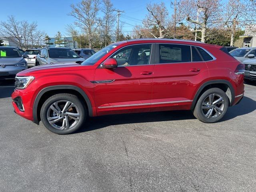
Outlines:
{"label": "glossy red hood of the SUV in the foreground", "polygon": [[29,68],[22,72],[19,72],[17,76],[29,76],[30,74],[34,73],[41,73],[41,72],[49,72],[49,71],[64,71],[69,70],[70,67],[77,67],[81,66],[75,62],[66,62],[66,63],[57,63],[57,64],[48,64],[48,65],[40,65]]}

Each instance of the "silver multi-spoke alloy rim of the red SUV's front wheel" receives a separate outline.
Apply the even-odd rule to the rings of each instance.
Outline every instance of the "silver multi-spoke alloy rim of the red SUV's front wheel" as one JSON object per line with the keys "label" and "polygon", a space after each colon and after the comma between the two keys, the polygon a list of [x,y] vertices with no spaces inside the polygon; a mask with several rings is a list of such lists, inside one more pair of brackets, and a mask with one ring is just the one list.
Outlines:
{"label": "silver multi-spoke alloy rim of the red SUV's front wheel", "polygon": [[59,100],[48,108],[47,120],[53,128],[68,130],[78,124],[80,112],[74,103],[68,100]]}

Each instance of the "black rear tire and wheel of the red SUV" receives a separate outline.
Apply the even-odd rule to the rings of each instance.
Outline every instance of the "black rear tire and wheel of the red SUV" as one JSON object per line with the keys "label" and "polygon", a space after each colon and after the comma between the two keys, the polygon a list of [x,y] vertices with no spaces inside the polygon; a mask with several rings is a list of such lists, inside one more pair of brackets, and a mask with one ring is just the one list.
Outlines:
{"label": "black rear tire and wheel of the red SUV", "polygon": [[[221,103],[213,104],[214,102],[212,102],[212,104],[210,104],[210,95],[212,95],[213,97],[211,99],[212,101],[216,101],[221,97],[222,98],[222,101],[220,101]],[[208,102],[206,102],[207,100]],[[204,106],[202,106],[203,103],[204,103]],[[226,93],[219,88],[210,88],[206,90],[198,99],[196,106],[194,108],[193,114],[198,120],[202,122],[215,123],[215,122],[218,122],[226,114],[228,106],[229,106],[229,100]],[[211,111],[209,112],[209,110],[212,110],[212,114],[211,114]],[[218,112],[218,110],[222,112]],[[212,115],[212,116],[208,118],[207,116],[209,115]]]}

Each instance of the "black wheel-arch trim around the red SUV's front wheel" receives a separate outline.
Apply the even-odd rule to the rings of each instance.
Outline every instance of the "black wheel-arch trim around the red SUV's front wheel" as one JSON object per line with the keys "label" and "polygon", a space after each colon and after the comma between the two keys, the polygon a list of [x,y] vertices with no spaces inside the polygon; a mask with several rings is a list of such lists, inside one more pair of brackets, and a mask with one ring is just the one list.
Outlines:
{"label": "black wheel-arch trim around the red SUV's front wheel", "polygon": [[38,103],[39,103],[42,95],[48,91],[58,90],[58,89],[69,89],[69,90],[76,90],[77,92],[79,92],[83,96],[84,100],[86,101],[86,104],[88,106],[89,116],[92,116],[92,104],[91,104],[88,96],[86,95],[86,93],[81,88],[74,86],[74,85],[56,85],[56,86],[49,86],[49,87],[43,88],[37,94],[37,96],[34,100],[34,104],[33,104],[33,122],[34,123],[39,124],[39,121],[37,118],[37,106],[38,106]]}

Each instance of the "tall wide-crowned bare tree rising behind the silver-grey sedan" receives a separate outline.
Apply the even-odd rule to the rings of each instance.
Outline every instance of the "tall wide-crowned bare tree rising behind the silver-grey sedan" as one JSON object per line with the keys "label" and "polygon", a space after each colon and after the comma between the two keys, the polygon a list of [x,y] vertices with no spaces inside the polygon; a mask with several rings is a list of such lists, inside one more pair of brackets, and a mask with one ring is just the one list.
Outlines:
{"label": "tall wide-crowned bare tree rising behind the silver-grey sedan", "polygon": [[82,0],[82,2],[71,5],[70,16],[76,18],[75,25],[88,34],[89,48],[92,48],[92,37],[99,26],[98,12],[99,0]]}

